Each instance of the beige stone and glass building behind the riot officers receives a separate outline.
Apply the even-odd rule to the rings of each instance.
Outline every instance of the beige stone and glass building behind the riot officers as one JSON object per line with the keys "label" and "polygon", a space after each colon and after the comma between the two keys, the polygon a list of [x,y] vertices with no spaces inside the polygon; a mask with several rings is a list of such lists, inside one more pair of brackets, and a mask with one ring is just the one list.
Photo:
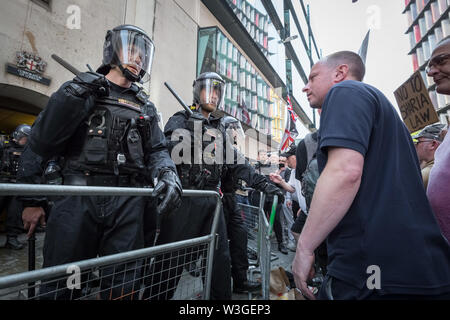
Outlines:
{"label": "beige stone and glass building behind the riot officers", "polygon": [[155,43],[151,81],[143,84],[164,125],[182,110],[168,82],[187,103],[200,73],[227,81],[228,114],[253,132],[245,153],[277,151],[289,95],[300,136],[318,120],[301,89],[319,53],[303,1],[291,0],[15,0],[0,3],[0,129],[32,124],[50,95],[76,69],[96,69],[106,31],[124,23],[143,28]]}

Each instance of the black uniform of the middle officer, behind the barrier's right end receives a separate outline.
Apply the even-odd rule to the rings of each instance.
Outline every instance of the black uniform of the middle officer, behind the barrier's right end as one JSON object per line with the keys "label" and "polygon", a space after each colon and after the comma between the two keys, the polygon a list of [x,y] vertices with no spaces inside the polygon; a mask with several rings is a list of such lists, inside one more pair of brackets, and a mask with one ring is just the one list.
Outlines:
{"label": "black uniform of the middle officer, behind the barrier's right end", "polygon": [[[208,129],[214,128],[221,132],[222,137],[225,137],[225,128],[221,126],[220,118],[210,116],[209,119],[204,119],[198,112],[194,111],[194,115],[189,117],[186,111],[180,111],[174,114],[167,122],[164,128],[164,134],[167,141],[171,141],[172,133],[177,129],[185,129],[190,132],[192,136],[191,146],[194,144],[194,123],[201,122],[199,125],[203,133]],[[197,122],[198,123],[198,122]],[[214,139],[214,138],[212,138]],[[205,150],[207,145],[211,145],[211,141],[202,142]],[[215,150],[217,154],[223,152],[224,162],[226,159],[227,139],[223,139],[223,150]],[[177,142],[169,142],[169,150],[171,150]],[[231,146],[234,152],[234,148]],[[171,151],[172,152],[172,151]],[[193,157],[193,153],[191,154]],[[234,157],[236,157],[234,152]],[[203,158],[204,160],[204,158]],[[192,161],[192,159],[191,159]],[[194,162],[191,162],[194,163]],[[197,189],[197,190],[212,190],[219,191],[220,181],[225,167],[229,168],[236,175],[241,175],[237,171],[242,168],[237,167],[237,159],[233,160],[233,164],[181,164],[177,165],[178,175],[183,185],[183,189]],[[212,197],[184,197],[180,209],[173,212],[169,217],[163,217],[161,221],[161,235],[157,240],[157,244],[164,244],[174,241],[186,240],[211,232],[212,221],[214,218],[214,209],[216,206],[216,199]],[[147,232],[147,231],[146,231]],[[212,268],[212,282],[211,282],[211,299],[213,300],[230,300],[231,299],[231,266],[230,266],[230,251],[228,247],[227,230],[224,221],[223,210],[221,209],[219,223],[218,223],[218,245],[214,253],[214,263]],[[150,243],[149,243],[150,244]],[[176,257],[176,255],[173,255]],[[167,257],[166,257],[167,258]],[[144,298],[155,300],[170,299],[183,270],[183,265],[177,264],[177,258],[166,259],[165,261],[157,261],[155,268],[154,283],[162,281],[161,285],[149,288],[144,294]],[[197,257],[193,256],[191,261],[196,261]],[[189,263],[189,262],[187,262]],[[178,265],[177,268],[168,270],[169,266]],[[158,270],[164,270],[159,273]]]}

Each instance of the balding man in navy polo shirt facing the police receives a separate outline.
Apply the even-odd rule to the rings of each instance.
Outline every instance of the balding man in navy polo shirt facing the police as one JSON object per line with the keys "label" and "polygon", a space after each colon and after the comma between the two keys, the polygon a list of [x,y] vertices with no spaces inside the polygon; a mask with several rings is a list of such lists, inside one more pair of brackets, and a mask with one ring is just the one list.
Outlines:
{"label": "balding man in navy polo shirt facing the police", "polygon": [[292,266],[314,299],[314,250],[327,239],[319,299],[450,299],[450,246],[427,200],[411,136],[394,107],[364,84],[361,58],[332,54],[303,91],[322,108],[317,182]]}

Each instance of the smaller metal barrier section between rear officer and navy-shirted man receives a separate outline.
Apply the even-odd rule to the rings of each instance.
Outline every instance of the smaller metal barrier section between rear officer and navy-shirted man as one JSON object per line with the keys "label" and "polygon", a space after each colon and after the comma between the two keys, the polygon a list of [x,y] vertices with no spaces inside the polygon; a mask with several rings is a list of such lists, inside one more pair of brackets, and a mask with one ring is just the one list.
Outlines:
{"label": "smaller metal barrier section between rear officer and navy-shirted man", "polygon": [[[272,261],[270,233],[272,227],[264,213],[265,195],[261,193],[259,207],[238,203],[248,231],[247,249],[255,253],[257,263],[249,268],[249,280],[255,281],[255,274],[261,275],[261,298],[269,300],[270,268]],[[249,299],[252,294],[249,293]]]}

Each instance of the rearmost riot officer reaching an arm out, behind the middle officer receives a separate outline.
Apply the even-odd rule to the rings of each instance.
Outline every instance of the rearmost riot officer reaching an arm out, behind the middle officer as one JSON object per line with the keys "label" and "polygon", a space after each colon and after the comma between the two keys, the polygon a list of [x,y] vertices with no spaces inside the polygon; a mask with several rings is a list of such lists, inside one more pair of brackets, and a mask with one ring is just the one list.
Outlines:
{"label": "rearmost riot officer reaching an arm out, behind the middle officer", "polygon": [[[227,137],[234,144],[238,136],[243,137],[243,130],[240,122],[233,117],[223,117],[222,125],[227,131]],[[257,191],[262,191],[268,195],[277,195],[282,201],[283,192],[271,184],[267,178],[258,174],[250,163],[245,160],[244,164],[238,164],[240,170],[228,170],[222,175],[221,190],[223,192],[223,211],[227,225],[228,238],[230,239],[231,255],[231,276],[233,278],[233,292],[254,292],[261,288],[261,283],[247,279],[249,267],[247,256],[247,230],[244,227],[244,220],[237,206],[235,193],[243,180],[247,186]],[[239,175],[235,174],[239,172]]]}

